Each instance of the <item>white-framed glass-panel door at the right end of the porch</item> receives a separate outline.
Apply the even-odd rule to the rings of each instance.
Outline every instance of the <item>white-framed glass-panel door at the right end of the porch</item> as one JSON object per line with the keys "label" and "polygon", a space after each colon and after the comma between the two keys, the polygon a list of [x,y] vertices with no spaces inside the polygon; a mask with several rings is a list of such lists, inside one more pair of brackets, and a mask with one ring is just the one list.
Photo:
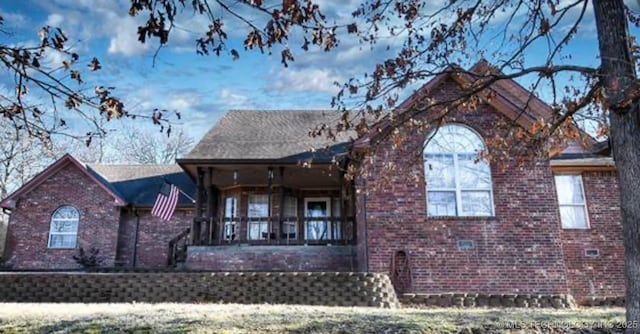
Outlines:
{"label": "white-framed glass-panel door at the right end of the porch", "polygon": [[328,197],[305,198],[304,238],[306,240],[328,240],[331,238],[331,199]]}

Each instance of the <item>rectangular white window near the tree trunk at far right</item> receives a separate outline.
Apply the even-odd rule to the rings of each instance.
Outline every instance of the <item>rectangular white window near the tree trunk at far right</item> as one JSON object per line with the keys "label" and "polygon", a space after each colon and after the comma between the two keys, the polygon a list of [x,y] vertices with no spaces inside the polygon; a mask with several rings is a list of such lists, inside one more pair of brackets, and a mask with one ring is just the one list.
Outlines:
{"label": "rectangular white window near the tree trunk at far right", "polygon": [[556,192],[562,228],[589,228],[581,175],[556,175]]}

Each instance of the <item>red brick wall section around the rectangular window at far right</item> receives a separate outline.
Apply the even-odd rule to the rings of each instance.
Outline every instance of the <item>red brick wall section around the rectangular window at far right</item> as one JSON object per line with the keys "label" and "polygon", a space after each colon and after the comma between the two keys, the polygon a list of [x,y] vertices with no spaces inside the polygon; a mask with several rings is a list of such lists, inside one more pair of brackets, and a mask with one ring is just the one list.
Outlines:
{"label": "red brick wall section around the rectangular window at far right", "polygon": [[[576,299],[624,295],[624,249],[615,172],[584,172],[590,228],[562,230],[567,279]],[[598,249],[598,256],[586,256]]]}

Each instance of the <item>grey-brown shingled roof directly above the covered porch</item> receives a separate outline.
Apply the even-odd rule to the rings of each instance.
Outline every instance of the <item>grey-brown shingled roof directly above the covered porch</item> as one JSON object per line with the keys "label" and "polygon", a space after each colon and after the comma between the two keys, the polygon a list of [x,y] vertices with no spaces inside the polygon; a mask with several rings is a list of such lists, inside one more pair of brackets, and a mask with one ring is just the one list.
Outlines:
{"label": "grey-brown shingled roof directly above the covered porch", "polygon": [[[331,159],[348,149],[355,132],[343,132],[332,140],[313,138],[309,131],[335,125],[340,116],[332,110],[232,110],[181,161]],[[329,150],[315,151],[326,147]]]}

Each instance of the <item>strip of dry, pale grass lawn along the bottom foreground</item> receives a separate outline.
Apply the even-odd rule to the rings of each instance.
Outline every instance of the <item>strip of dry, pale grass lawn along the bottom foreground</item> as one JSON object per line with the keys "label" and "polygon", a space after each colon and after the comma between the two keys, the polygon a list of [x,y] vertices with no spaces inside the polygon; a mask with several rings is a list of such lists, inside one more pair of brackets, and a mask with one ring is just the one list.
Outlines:
{"label": "strip of dry, pale grass lawn along the bottom foreground", "polygon": [[0,303],[0,333],[618,333],[623,319],[621,308]]}

